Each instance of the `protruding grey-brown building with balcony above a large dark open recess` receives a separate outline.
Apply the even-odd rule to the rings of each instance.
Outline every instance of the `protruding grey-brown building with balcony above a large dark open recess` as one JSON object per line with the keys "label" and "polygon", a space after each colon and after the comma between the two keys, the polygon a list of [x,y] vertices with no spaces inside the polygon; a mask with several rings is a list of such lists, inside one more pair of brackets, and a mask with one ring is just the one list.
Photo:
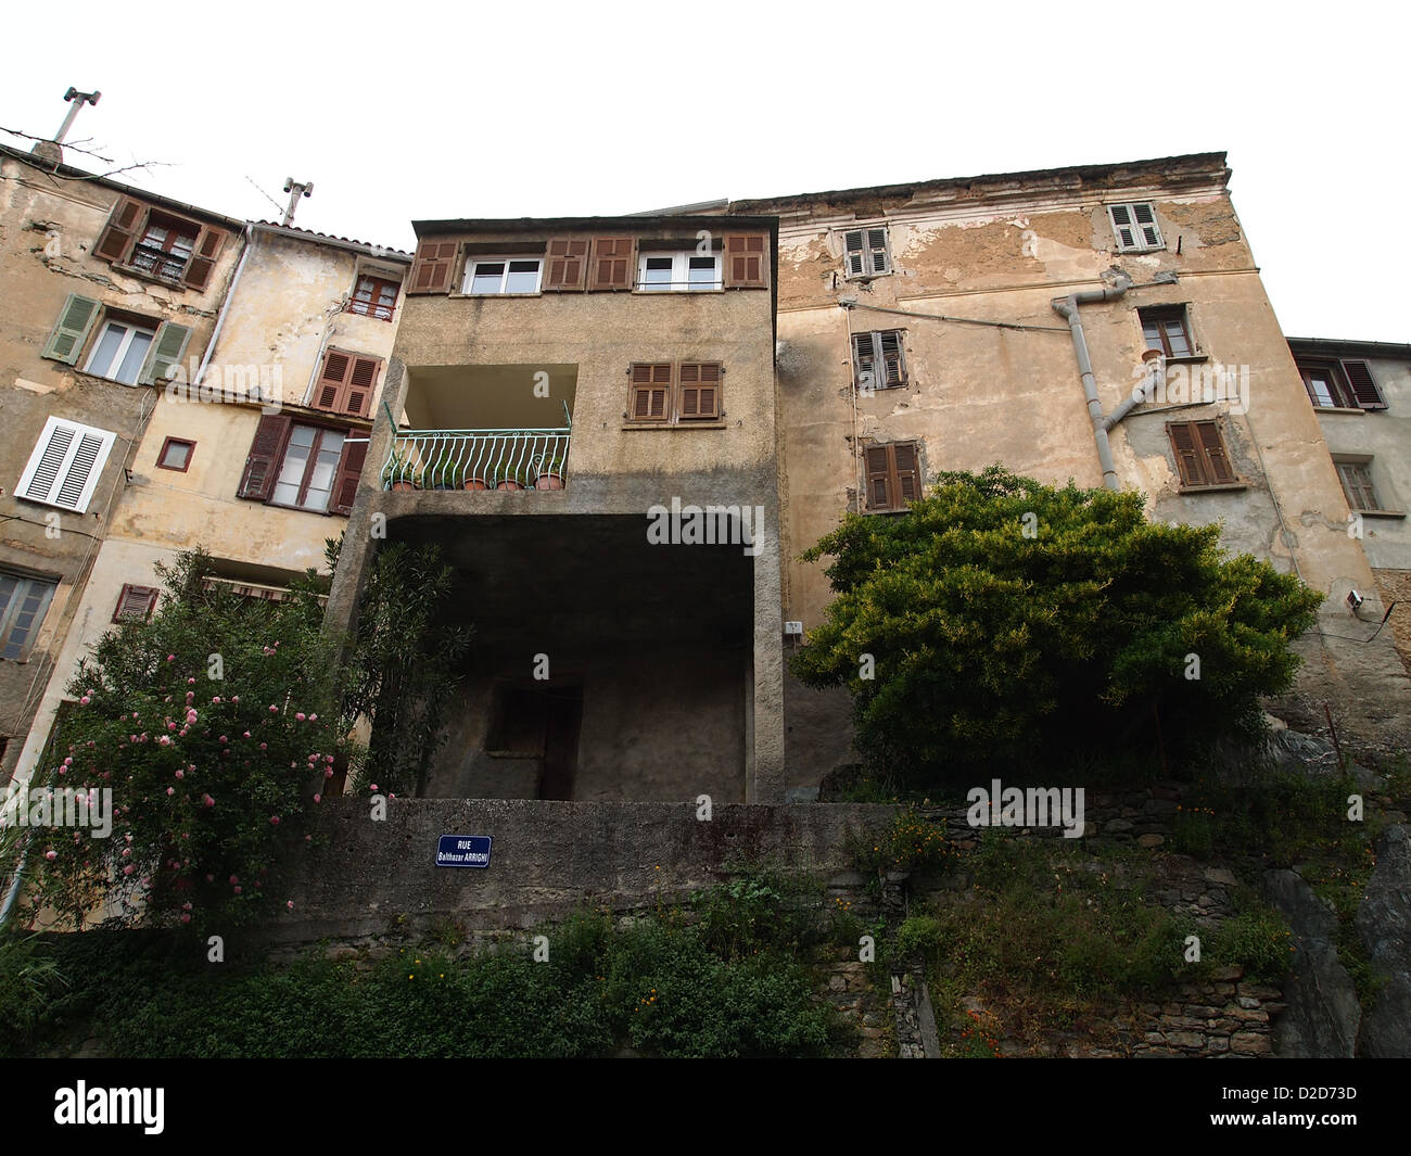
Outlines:
{"label": "protruding grey-brown building with balcony above a large dark open recess", "polygon": [[428,793],[782,793],[773,222],[416,222],[330,596],[436,542],[474,627]]}

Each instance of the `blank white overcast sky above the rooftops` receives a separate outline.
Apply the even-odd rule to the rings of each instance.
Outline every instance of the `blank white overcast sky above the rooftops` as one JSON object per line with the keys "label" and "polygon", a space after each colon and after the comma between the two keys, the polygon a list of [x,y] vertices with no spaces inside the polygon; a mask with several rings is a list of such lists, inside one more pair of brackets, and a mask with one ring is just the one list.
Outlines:
{"label": "blank white overcast sky above the rooftops", "polygon": [[69,85],[100,89],[69,143],[166,162],[119,179],[255,219],[279,209],[250,179],[281,207],[313,181],[296,224],[401,248],[413,219],[1225,150],[1284,332],[1411,342],[1408,11],[71,0],[58,24],[11,13],[0,126],[52,136]]}

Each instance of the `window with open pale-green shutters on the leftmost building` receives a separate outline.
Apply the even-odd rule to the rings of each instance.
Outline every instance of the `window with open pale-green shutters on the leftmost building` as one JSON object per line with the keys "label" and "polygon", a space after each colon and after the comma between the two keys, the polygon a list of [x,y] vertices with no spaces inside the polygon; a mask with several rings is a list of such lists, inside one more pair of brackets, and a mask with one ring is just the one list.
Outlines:
{"label": "window with open pale-green shutters on the leftmost building", "polygon": [[[97,332],[89,349],[89,339]],[[110,312],[90,296],[69,294],[49,330],[41,357],[78,366],[87,349],[83,373],[124,385],[154,385],[181,364],[190,329]]]}

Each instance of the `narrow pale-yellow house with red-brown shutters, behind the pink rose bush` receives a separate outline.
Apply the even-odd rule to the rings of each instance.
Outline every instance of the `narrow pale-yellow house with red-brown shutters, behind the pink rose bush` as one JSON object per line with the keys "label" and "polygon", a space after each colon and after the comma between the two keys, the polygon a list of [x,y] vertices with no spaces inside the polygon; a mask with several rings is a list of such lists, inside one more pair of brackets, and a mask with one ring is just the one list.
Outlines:
{"label": "narrow pale-yellow house with red-brown shutters, behind the pink rose bush", "polygon": [[150,617],[157,566],[202,546],[220,582],[279,598],[351,510],[411,254],[247,223],[203,356],[150,399],[106,541],[24,747],[32,765],[65,686],[126,617]]}

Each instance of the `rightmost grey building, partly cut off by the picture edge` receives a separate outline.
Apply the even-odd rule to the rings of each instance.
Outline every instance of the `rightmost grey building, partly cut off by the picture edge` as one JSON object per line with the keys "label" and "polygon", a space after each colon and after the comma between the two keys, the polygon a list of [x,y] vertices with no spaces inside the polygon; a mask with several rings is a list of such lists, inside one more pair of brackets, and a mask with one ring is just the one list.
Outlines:
{"label": "rightmost grey building, partly cut off by the picture edge", "polygon": [[1390,610],[1384,632],[1411,670],[1411,346],[1290,337],[1288,347],[1377,580],[1356,618],[1370,638]]}

